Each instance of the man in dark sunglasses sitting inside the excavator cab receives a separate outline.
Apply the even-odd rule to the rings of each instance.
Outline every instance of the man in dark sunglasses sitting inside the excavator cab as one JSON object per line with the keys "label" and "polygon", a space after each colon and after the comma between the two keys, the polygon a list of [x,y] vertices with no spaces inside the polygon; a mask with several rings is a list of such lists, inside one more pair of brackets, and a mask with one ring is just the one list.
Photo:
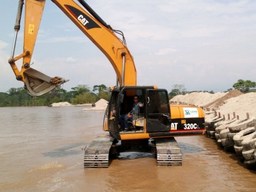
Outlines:
{"label": "man in dark sunglasses sitting inside the excavator cab", "polygon": [[140,108],[143,107],[143,104],[141,102],[138,102],[139,101],[138,95],[133,96],[133,101],[134,103],[132,104],[132,110],[127,114],[120,115],[120,118],[119,118],[120,124],[121,124],[121,130],[124,132],[129,131],[128,121],[131,120],[133,116],[138,116],[140,113]]}

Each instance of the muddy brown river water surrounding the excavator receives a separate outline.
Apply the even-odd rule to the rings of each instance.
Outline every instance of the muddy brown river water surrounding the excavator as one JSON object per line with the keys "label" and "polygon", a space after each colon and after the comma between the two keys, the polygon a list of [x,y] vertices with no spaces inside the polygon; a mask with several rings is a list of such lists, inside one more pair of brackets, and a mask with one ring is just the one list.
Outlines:
{"label": "muddy brown river water surrounding the excavator", "polygon": [[256,172],[205,136],[175,138],[182,166],[126,152],[84,170],[84,147],[105,132],[104,111],[83,108],[0,108],[0,191],[256,191]]}

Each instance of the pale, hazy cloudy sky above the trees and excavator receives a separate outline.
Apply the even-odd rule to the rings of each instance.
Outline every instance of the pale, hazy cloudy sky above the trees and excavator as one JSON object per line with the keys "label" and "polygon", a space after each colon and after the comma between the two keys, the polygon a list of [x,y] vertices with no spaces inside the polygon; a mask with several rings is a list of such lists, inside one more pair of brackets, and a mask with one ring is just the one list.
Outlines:
{"label": "pale, hazy cloudy sky above the trees and excavator", "polygon": [[[18,2],[1,1],[0,92],[24,86],[8,63]],[[256,1],[86,3],[124,33],[140,86],[156,85],[171,92],[174,84],[184,84],[187,91],[225,92],[238,79],[256,81]],[[24,19],[20,25],[14,56],[22,54]],[[47,76],[70,79],[63,84],[67,91],[78,84],[90,88],[116,84],[106,56],[50,0],[45,3],[31,63]],[[20,70],[21,60],[17,65]]]}

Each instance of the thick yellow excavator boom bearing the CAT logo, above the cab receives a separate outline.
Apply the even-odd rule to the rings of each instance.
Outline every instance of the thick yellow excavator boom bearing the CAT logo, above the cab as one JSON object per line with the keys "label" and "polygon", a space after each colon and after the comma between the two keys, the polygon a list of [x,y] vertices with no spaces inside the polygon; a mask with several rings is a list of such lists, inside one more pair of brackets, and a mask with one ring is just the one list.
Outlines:
{"label": "thick yellow excavator boom bearing the CAT logo, above the cab", "polygon": [[[132,55],[125,42],[115,35],[115,30],[96,13],[93,14],[93,10],[90,12],[94,17],[73,0],[52,0],[52,2],[105,54],[116,72],[119,84],[136,86],[137,74]],[[79,2],[84,8],[90,9],[84,0]]]}

